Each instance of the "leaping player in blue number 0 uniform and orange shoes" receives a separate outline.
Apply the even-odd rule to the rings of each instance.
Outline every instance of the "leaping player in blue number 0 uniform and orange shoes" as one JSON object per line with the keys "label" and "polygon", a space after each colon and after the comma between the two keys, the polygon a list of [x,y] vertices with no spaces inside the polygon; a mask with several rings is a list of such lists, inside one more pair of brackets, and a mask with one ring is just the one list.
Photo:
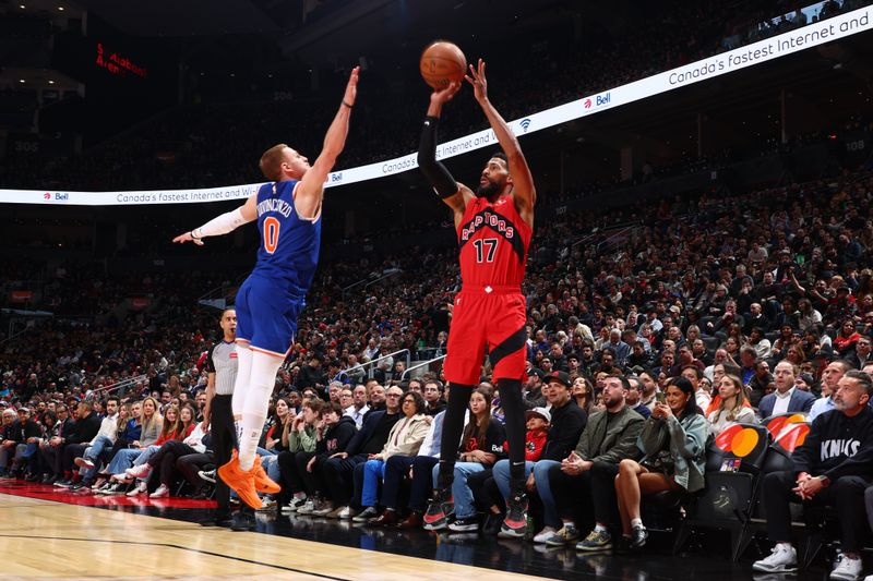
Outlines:
{"label": "leaping player in blue number 0 uniform and orange shoes", "polygon": [[272,183],[262,185],[237,209],[172,240],[202,245],[206,237],[226,234],[258,220],[258,262],[236,300],[239,370],[231,407],[239,422],[239,452],[218,468],[225,484],[252,508],[261,507],[258,492],[279,492],[261,468],[255,448],[276,373],[294,343],[297,317],[315,275],[324,182],[346,143],[358,73],[356,66],[315,164],[310,166],[285,144],[271,147],[261,156],[260,167]]}

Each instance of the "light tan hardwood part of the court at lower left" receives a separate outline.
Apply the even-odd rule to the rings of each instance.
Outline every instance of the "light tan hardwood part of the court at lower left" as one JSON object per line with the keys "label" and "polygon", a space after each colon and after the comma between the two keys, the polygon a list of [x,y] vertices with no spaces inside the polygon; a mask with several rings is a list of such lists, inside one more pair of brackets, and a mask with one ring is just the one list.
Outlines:
{"label": "light tan hardwood part of the court at lower left", "polygon": [[541,579],[0,494],[7,579]]}

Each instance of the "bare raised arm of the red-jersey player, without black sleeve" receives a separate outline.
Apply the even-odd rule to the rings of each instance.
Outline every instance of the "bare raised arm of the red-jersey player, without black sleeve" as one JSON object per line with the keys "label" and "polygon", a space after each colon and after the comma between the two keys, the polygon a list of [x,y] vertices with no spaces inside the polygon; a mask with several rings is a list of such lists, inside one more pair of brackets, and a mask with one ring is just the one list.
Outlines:
{"label": "bare raised arm of the red-jersey player, without black sleeve", "polygon": [[[527,167],[527,160],[518,140],[515,137],[510,126],[504,121],[503,117],[494,109],[491,101],[488,100],[488,82],[485,77],[485,61],[479,59],[478,68],[470,64],[470,74],[464,78],[473,85],[476,100],[485,111],[488,122],[491,123],[491,129],[494,130],[494,135],[498,137],[500,147],[506,154],[506,159],[510,162],[510,175],[512,175],[513,194],[515,203],[521,206],[522,216],[525,213],[534,210],[534,204],[537,202],[537,190],[534,186],[534,177],[530,174],[530,168]],[[531,216],[533,221],[533,216]]]}

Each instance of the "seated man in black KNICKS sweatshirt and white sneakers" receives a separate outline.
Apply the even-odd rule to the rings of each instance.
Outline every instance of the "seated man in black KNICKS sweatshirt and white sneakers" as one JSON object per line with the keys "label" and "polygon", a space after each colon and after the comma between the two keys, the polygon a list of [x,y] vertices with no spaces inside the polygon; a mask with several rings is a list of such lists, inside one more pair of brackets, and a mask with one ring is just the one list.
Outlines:
{"label": "seated man in black KNICKS sweatshirt and white sneakers", "polygon": [[789,503],[836,507],[839,512],[842,558],[830,579],[854,581],[861,574],[862,536],[866,529],[864,489],[873,481],[873,396],[870,375],[846,372],[839,380],[834,410],[816,417],[803,446],[794,450],[794,469],[764,477],[767,536],[776,543],[773,554],[756,561],[762,572],[797,570],[791,546]]}

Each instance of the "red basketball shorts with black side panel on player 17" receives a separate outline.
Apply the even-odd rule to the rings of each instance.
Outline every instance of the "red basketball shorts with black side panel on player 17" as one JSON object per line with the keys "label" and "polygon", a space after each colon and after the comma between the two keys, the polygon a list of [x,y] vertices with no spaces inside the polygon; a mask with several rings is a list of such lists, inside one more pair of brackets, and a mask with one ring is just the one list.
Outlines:
{"label": "red basketball shorts with black side panel on player 17", "polygon": [[494,382],[524,380],[526,323],[525,298],[518,287],[462,289],[455,296],[449,331],[445,378],[453,384],[477,385],[488,348]]}

